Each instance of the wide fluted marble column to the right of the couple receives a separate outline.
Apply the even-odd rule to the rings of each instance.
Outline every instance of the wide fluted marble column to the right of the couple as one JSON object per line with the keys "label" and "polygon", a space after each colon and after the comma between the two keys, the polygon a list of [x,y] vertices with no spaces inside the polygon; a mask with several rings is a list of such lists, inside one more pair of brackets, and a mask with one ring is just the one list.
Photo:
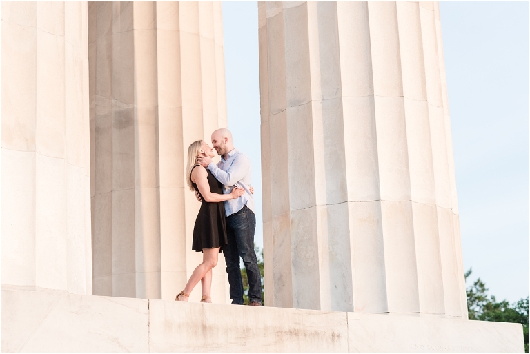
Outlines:
{"label": "wide fluted marble column to the right of the couple", "polygon": [[438,3],[258,7],[266,304],[467,318]]}

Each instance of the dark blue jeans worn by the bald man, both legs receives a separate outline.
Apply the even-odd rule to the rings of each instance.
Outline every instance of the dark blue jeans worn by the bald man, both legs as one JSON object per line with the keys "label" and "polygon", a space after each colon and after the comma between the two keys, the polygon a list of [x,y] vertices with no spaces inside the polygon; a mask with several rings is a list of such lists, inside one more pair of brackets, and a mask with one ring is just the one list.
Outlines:
{"label": "dark blue jeans worn by the bald man, both legs", "polygon": [[243,281],[239,257],[243,259],[248,276],[248,298],[250,301],[262,302],[262,277],[257,266],[254,252],[254,231],[256,216],[246,206],[237,213],[226,218],[226,234],[228,244],[224,246],[226,273],[230,283],[230,299],[232,304],[243,304]]}

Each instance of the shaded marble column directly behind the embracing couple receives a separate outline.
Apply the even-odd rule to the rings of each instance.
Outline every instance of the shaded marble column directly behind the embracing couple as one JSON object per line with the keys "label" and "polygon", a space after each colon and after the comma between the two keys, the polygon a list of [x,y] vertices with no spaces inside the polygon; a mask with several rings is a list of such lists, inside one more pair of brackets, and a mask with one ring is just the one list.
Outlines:
{"label": "shaded marble column directly behind the embracing couple", "polygon": [[188,146],[227,126],[221,3],[90,2],[88,37],[94,294],[175,299],[202,262]]}

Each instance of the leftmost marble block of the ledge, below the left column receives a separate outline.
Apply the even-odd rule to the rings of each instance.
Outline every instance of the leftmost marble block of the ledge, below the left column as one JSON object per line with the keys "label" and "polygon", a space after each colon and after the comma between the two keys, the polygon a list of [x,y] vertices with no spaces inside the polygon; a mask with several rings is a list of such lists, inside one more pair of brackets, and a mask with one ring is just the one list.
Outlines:
{"label": "leftmost marble block of the ledge, below the left column", "polygon": [[3,285],[1,351],[148,352],[148,300]]}

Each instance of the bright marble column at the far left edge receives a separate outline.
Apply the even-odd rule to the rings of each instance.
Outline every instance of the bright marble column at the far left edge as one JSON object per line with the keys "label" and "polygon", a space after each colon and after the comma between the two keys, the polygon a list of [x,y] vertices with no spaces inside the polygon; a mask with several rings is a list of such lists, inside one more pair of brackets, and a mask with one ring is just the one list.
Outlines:
{"label": "bright marble column at the far left edge", "polygon": [[2,284],[92,294],[87,18],[1,3]]}

